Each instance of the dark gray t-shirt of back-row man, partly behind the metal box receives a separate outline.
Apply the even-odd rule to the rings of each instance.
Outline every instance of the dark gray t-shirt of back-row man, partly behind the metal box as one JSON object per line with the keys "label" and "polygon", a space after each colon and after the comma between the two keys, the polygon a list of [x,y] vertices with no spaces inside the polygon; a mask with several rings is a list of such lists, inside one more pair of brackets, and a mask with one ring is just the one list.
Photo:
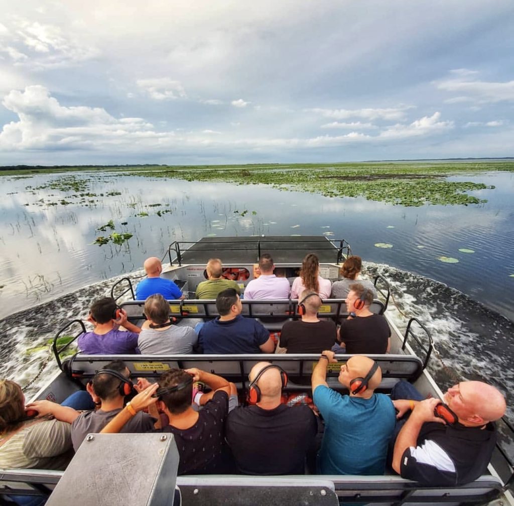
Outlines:
{"label": "dark gray t-shirt of back-row man, partly behind the metal box", "polygon": [[[112,411],[85,411],[81,413],[71,424],[71,442],[75,451],[79,449],[87,434],[100,432],[119,412],[120,409]],[[120,430],[123,433],[148,432],[154,428],[155,418],[148,413],[139,411]]]}

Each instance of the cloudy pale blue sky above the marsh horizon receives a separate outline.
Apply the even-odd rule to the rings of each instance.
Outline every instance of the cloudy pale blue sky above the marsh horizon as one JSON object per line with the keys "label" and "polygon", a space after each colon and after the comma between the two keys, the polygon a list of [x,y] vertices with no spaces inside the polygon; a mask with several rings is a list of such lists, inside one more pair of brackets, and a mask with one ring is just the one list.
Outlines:
{"label": "cloudy pale blue sky above the marsh horizon", "polygon": [[512,0],[0,8],[0,165],[514,156]]}

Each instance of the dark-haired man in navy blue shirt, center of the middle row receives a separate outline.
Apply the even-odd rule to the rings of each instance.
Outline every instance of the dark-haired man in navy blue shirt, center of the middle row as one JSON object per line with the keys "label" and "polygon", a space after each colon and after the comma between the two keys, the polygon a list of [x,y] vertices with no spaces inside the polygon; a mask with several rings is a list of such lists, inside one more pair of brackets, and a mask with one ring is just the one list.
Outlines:
{"label": "dark-haired man in navy blue shirt, center of the middle row", "polygon": [[243,318],[243,305],[233,288],[218,293],[219,315],[200,328],[198,345],[206,354],[273,353],[269,331],[253,318]]}

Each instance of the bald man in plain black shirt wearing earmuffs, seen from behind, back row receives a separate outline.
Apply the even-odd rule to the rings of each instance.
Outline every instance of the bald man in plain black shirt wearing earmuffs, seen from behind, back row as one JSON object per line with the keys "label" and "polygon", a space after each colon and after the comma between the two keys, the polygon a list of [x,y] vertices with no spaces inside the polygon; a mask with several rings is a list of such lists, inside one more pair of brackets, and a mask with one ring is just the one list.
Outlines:
{"label": "bald man in plain black shirt wearing earmuffs, seen from behind, back row", "polygon": [[240,473],[302,475],[308,453],[314,454],[316,416],[308,406],[281,404],[282,377],[277,365],[255,364],[248,378],[256,404],[228,416],[226,440]]}

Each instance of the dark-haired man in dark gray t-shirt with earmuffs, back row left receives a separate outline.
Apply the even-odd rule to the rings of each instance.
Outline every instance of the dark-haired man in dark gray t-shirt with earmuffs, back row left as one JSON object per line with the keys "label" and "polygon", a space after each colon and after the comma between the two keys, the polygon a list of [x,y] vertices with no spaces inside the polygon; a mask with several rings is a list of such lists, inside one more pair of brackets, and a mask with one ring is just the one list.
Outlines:
{"label": "dark-haired man in dark gray t-shirt with earmuffs, back row left", "polygon": [[[87,434],[100,432],[123,409],[124,396],[132,390],[130,371],[121,360],[108,363],[103,371],[87,384],[87,391],[95,403],[100,404],[100,409],[80,413],[71,424],[71,441],[75,451]],[[154,423],[155,418],[139,412],[125,424],[121,432],[147,432],[154,428]]]}

